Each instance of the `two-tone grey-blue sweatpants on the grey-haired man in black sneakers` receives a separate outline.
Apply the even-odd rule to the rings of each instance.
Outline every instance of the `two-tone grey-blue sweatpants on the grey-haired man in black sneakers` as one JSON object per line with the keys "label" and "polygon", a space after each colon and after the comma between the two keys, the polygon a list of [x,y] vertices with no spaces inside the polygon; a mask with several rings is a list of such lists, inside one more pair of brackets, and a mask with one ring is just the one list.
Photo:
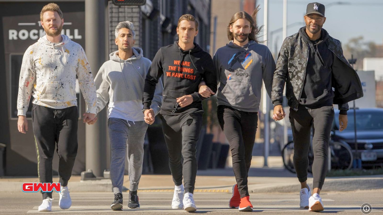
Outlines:
{"label": "two-tone grey-blue sweatpants on the grey-haired man in black sneakers", "polygon": [[110,178],[114,194],[122,192],[126,151],[128,151],[129,161],[129,190],[136,191],[138,189],[142,174],[142,161],[144,160],[146,130],[145,121],[132,122],[118,118],[108,119],[111,148]]}

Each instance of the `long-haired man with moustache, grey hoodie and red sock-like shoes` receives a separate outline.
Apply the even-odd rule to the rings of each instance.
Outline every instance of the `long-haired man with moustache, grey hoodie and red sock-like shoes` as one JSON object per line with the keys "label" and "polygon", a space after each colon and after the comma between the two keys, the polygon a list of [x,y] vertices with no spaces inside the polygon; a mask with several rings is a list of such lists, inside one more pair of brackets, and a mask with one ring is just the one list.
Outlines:
{"label": "long-haired man with moustache, grey hoodie and red sock-like shoes", "polygon": [[[252,16],[239,11],[232,16],[228,28],[229,43],[214,54],[218,75],[218,121],[228,139],[237,184],[233,186],[229,207],[252,211],[247,176],[257,130],[262,80],[271,96],[275,62],[267,46],[259,44],[260,28]],[[234,62],[234,63],[233,63]],[[210,89],[201,86],[200,93],[208,97]]]}

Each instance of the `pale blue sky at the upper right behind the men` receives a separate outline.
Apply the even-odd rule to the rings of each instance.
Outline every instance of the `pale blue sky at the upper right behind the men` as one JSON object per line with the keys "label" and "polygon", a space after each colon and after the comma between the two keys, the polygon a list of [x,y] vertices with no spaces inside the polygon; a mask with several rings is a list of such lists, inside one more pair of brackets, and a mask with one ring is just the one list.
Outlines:
{"label": "pale blue sky at the upper right behind the men", "polygon": [[[303,24],[294,24],[288,27],[287,36],[295,34],[298,29],[304,26],[304,13],[308,3],[313,0],[287,0],[287,25],[296,22]],[[324,0],[318,1],[326,7],[326,22],[323,28],[330,36],[339,39],[345,44],[353,37],[363,36],[364,41],[373,41],[378,45],[383,44],[383,0]],[[342,2],[343,4],[336,4]],[[257,21],[259,25],[264,24],[264,0],[257,0],[261,10],[258,12]],[[283,0],[268,0],[268,32],[282,28],[283,24]],[[260,33],[260,35],[265,32]],[[262,38],[262,37],[261,37]],[[268,38],[270,42],[270,38]],[[272,46],[268,44],[270,50],[274,53],[275,47],[278,51],[282,45],[282,31],[273,33]],[[275,43],[276,46],[275,46]]]}

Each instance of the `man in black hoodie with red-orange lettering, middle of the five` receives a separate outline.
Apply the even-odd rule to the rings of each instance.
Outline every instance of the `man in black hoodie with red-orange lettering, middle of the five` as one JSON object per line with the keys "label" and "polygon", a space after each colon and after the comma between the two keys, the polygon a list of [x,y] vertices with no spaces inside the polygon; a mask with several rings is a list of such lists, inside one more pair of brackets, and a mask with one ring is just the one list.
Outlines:
{"label": "man in black hoodie with red-orange lettering, middle of the five", "polygon": [[[150,105],[155,85],[161,75],[164,75],[159,116],[175,184],[172,208],[184,208],[193,212],[196,210],[193,200],[197,174],[196,143],[200,137],[203,114],[203,97],[198,93],[198,85],[203,78],[215,93],[217,83],[210,54],[193,42],[198,34],[198,22],[194,16],[187,14],[180,17],[177,34],[179,40],[172,45],[161,47],[153,59],[145,80],[142,111],[145,121],[152,124],[154,112]],[[182,186],[182,176],[185,187]]]}

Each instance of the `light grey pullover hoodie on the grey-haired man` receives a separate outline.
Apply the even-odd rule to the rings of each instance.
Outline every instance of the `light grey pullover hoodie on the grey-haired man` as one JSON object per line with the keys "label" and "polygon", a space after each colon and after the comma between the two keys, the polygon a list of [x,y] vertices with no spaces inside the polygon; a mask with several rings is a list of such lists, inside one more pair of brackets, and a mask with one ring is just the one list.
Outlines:
{"label": "light grey pullover hoodie on the grey-haired man", "polygon": [[[119,58],[118,51],[112,52],[109,57],[110,60],[101,66],[95,77],[97,112],[109,101],[108,117],[128,115],[129,121],[143,121],[142,95],[145,78],[152,62],[143,57],[139,47],[133,47],[133,56],[127,60]],[[158,114],[158,106],[161,106],[162,89],[162,82],[159,81],[155,87],[154,103],[151,105],[155,114]]]}

